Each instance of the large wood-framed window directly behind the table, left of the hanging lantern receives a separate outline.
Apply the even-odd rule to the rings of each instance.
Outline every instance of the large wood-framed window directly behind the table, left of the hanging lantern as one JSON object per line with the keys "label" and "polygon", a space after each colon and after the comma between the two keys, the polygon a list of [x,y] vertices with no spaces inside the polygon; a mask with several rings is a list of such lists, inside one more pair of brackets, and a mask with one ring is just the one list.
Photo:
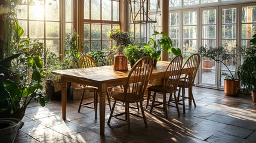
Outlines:
{"label": "large wood-framed window directly behind the table, left of the hanging lantern", "polygon": [[84,0],[84,52],[110,51],[107,32],[120,27],[119,0]]}

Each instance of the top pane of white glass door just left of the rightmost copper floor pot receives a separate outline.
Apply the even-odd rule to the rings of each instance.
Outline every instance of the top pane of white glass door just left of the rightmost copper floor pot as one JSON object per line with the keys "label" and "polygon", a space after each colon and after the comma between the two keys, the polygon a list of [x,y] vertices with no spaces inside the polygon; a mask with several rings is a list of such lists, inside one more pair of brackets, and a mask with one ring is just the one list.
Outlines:
{"label": "top pane of white glass door just left of the rightmost copper floor pot", "polygon": [[216,24],[216,10],[205,10],[203,13],[203,24]]}

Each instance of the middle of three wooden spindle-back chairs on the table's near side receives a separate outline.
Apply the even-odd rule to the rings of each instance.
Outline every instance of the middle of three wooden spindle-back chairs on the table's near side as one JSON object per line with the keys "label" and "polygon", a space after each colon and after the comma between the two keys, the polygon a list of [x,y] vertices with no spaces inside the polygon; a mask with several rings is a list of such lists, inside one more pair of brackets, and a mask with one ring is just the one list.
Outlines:
{"label": "middle of three wooden spindle-back chairs on the table's near side", "polygon": [[[162,80],[162,85],[153,85],[147,88],[146,108],[149,105],[150,98],[152,97],[151,92],[154,92],[150,113],[152,113],[153,107],[163,108],[165,112],[165,116],[168,117],[167,108],[166,108],[166,94],[169,94],[170,97],[168,102],[171,102],[171,99],[172,99],[172,101],[174,101],[175,106],[171,104],[168,104],[168,105],[172,107],[176,107],[178,115],[180,115],[180,110],[178,108],[178,102],[177,102],[177,97],[175,95],[175,92],[178,91],[177,86],[178,86],[178,80],[180,80],[182,63],[183,63],[183,57],[181,55],[177,55],[175,58],[172,59],[171,63],[169,63],[169,66],[165,71],[164,79]],[[163,94],[163,102],[156,101],[156,92]],[[171,98],[172,93],[174,93],[174,98]],[[163,107],[159,107],[159,105],[163,105]]]}

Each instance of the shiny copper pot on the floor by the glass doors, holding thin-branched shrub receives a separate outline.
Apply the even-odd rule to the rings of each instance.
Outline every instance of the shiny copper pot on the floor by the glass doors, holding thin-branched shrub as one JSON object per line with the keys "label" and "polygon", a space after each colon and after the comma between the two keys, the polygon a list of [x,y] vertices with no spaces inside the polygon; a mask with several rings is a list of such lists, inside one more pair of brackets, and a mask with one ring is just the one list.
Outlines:
{"label": "shiny copper pot on the floor by the glass doors, holding thin-branched shrub", "polygon": [[224,80],[224,94],[227,96],[238,96],[240,94],[240,80]]}

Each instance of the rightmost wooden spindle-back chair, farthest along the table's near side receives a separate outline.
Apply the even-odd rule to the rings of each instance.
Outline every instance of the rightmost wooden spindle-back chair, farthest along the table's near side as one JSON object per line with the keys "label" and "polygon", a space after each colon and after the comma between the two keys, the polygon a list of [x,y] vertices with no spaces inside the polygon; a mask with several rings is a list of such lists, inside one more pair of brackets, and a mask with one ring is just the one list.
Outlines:
{"label": "rightmost wooden spindle-back chair, farthest along the table's near side", "polygon": [[[201,63],[201,57],[199,54],[191,55],[186,63],[183,66],[183,70],[186,70],[186,73],[180,78],[178,82],[178,102],[183,105],[183,114],[185,114],[185,100],[189,99],[189,105],[191,105],[191,100],[196,107],[196,102],[193,97],[192,88],[195,85],[196,73],[198,72],[198,67]],[[185,96],[185,89],[188,88],[188,97]],[[180,91],[182,90],[182,99],[180,100]],[[182,103],[180,103],[182,101]]]}

